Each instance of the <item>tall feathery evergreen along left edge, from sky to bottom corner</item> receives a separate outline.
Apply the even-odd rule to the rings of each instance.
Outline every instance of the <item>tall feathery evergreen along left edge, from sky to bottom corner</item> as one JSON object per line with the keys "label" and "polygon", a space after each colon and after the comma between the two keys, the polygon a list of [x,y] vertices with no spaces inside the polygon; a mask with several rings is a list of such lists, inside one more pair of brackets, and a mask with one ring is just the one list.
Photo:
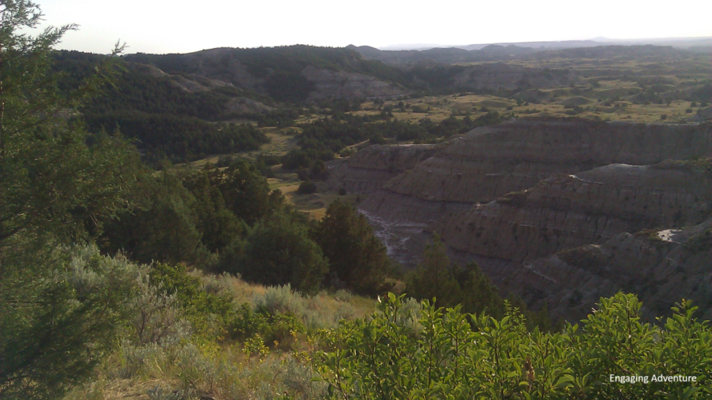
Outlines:
{"label": "tall feathery evergreen along left edge, from sky to bottom corner", "polygon": [[74,26],[22,33],[41,16],[31,1],[0,0],[2,399],[61,397],[112,343],[127,280],[98,256],[72,260],[62,243],[130,206],[141,173],[130,144],[67,117],[111,75],[112,58],[58,95],[51,52]]}

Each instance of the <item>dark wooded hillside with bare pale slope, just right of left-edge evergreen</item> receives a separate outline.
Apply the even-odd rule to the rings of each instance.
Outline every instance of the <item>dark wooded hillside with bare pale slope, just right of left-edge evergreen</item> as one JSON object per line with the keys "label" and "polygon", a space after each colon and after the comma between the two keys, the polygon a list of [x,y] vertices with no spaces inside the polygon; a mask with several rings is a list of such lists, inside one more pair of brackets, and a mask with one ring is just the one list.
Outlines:
{"label": "dark wooded hillside with bare pale slope, just right of left-edge evergreen", "polygon": [[[60,90],[77,88],[105,56],[54,53]],[[206,154],[257,149],[267,137],[252,125],[216,123],[235,115],[268,112],[271,99],[230,83],[187,73],[168,74],[150,65],[120,62],[115,85],[80,108],[91,132],[137,140],[150,162],[185,162]]]}

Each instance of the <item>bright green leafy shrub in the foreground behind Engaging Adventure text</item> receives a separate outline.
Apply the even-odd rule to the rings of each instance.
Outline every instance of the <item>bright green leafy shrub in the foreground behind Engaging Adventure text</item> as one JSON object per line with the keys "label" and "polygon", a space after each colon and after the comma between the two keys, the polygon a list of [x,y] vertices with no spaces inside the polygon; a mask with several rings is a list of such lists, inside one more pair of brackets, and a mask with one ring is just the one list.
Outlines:
{"label": "bright green leafy shrub in the foreground behind Engaging Adventure text", "polygon": [[[501,320],[459,306],[409,307],[389,294],[377,312],[344,325],[320,374],[336,399],[709,399],[708,321],[683,301],[664,327],[641,323],[641,303],[619,293],[582,325],[528,332],[510,310]],[[660,377],[696,377],[660,383]],[[648,383],[611,382],[649,377]],[[641,378],[642,379],[642,378]]]}

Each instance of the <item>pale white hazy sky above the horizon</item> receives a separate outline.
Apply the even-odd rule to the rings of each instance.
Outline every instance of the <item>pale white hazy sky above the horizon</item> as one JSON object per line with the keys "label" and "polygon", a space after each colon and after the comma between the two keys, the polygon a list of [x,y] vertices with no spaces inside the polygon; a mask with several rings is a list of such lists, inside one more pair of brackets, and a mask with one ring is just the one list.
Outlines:
{"label": "pale white hazy sky above the horizon", "polygon": [[36,0],[78,23],[60,48],[187,53],[290,44],[392,46],[712,36],[712,0]]}

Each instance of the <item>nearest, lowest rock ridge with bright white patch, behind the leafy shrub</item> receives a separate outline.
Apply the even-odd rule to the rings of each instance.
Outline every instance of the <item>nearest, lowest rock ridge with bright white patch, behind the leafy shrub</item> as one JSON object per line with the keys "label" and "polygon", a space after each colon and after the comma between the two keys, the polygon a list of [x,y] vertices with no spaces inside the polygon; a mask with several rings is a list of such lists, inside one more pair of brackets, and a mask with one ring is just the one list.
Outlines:
{"label": "nearest, lowest rock ridge with bright white patch, behind the leafy shrub", "polygon": [[712,219],[681,230],[621,233],[515,268],[501,288],[554,317],[580,320],[601,297],[637,293],[643,316],[669,315],[681,298],[712,317]]}

